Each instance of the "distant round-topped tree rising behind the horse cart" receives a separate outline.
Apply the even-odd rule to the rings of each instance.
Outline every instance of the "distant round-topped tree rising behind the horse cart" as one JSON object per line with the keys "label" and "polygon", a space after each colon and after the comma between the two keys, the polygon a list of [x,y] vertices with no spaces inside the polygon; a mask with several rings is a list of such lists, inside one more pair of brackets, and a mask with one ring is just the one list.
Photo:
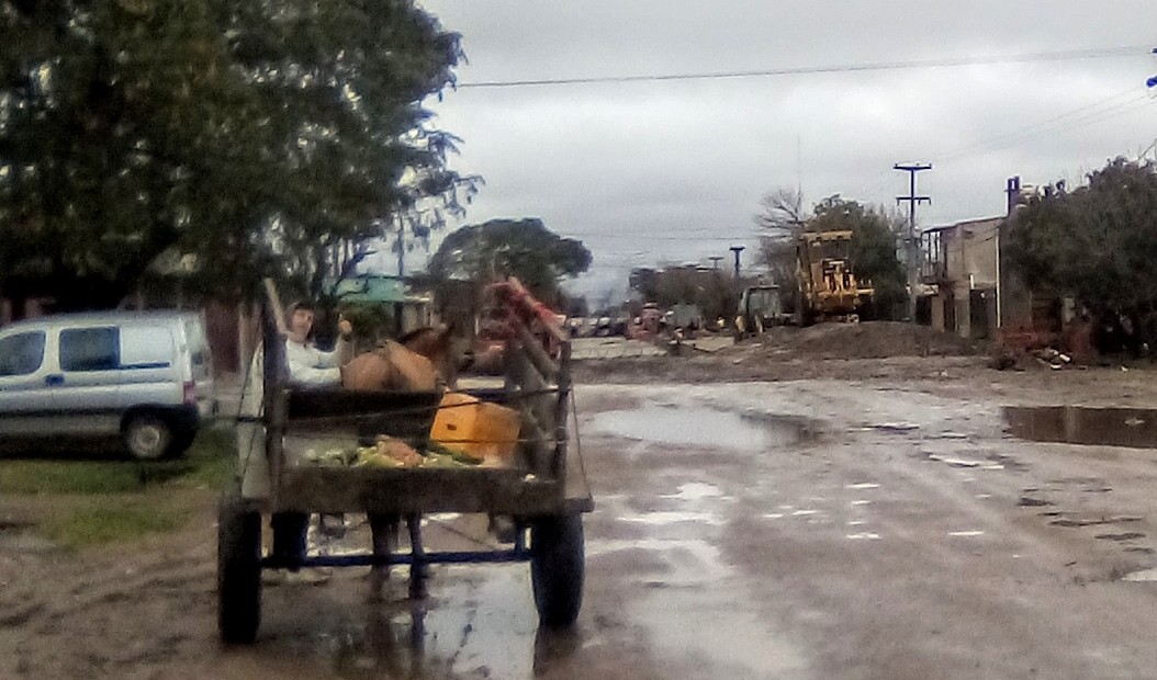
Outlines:
{"label": "distant round-topped tree rising behind the horse cart", "polygon": [[585,272],[590,263],[581,241],[550,231],[541,220],[491,220],[448,235],[430,258],[429,273],[440,282],[517,276],[541,302],[560,309],[560,280]]}

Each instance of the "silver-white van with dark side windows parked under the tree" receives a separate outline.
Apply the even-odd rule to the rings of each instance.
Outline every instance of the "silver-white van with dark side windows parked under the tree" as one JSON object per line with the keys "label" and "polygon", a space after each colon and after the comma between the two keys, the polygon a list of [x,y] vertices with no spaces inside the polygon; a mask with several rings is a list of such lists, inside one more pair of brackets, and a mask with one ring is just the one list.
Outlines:
{"label": "silver-white van with dark side windows parked under the tree", "polygon": [[201,317],[87,312],[0,328],[0,439],[119,437],[179,456],[214,411]]}

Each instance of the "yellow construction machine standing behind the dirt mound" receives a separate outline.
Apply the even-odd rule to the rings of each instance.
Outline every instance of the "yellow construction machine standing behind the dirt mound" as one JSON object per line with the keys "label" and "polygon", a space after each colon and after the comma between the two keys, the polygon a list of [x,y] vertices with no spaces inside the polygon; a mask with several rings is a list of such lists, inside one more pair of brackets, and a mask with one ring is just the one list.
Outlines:
{"label": "yellow construction machine standing behind the dirt mound", "polygon": [[852,231],[804,231],[796,237],[796,311],[801,326],[856,323],[871,302],[870,281],[852,271]]}

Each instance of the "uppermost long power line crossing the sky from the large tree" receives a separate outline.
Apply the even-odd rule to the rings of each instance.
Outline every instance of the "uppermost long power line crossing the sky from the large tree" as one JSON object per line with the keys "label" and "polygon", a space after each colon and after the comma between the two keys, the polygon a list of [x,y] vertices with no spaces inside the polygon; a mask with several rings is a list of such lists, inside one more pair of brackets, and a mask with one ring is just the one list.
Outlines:
{"label": "uppermost long power line crossing the sky from the large tree", "polygon": [[765,68],[753,71],[718,71],[706,73],[598,75],[588,77],[546,77],[506,81],[464,82],[457,89],[518,88],[563,84],[666,82],[687,80],[728,80],[739,77],[776,77],[784,75],[815,75],[827,73],[860,73],[865,71],[901,71],[912,68],[951,68],[958,66],[982,66],[996,64],[1027,64],[1033,61],[1067,61],[1074,59],[1118,59],[1148,56],[1151,45],[1128,47],[1103,47],[1093,50],[1064,50],[1057,52],[1027,52],[1022,54],[993,54],[987,57],[961,57],[948,59],[916,59],[911,61],[877,61],[869,64],[842,64],[833,66],[797,66],[788,68]]}

